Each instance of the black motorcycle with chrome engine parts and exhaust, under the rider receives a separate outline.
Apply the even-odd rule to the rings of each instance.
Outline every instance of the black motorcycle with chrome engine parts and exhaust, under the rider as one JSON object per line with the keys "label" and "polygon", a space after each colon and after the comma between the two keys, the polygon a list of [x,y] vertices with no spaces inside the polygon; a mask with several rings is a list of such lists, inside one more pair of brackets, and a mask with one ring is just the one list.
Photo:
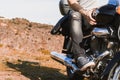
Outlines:
{"label": "black motorcycle with chrome engine parts and exhaust, under the rider", "polygon": [[80,71],[76,65],[69,34],[69,13],[51,30],[52,35],[64,36],[62,53],[52,51],[51,57],[66,66],[69,80],[120,80],[120,14],[116,12],[116,6],[106,5],[96,9],[92,16],[97,24],[83,25],[84,38],[80,46],[95,66]]}

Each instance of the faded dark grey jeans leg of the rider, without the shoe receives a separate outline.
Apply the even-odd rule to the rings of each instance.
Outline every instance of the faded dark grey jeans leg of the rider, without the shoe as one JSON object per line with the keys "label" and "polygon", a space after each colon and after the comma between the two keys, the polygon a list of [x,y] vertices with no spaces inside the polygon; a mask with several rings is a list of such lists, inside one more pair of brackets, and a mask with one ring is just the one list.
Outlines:
{"label": "faded dark grey jeans leg of the rider, without the shoe", "polygon": [[79,12],[71,11],[71,25],[70,25],[70,36],[72,39],[72,50],[75,59],[79,56],[85,57],[85,51],[80,47],[80,43],[83,39],[82,32],[82,16]]}

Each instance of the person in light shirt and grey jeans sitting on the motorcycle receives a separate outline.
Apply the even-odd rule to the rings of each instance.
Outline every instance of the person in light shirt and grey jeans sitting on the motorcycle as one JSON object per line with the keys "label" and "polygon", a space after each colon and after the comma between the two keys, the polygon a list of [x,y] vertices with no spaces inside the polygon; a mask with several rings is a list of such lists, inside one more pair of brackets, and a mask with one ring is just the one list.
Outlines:
{"label": "person in light shirt and grey jeans sitting on the motorcycle", "polygon": [[91,14],[96,8],[100,8],[107,4],[118,5],[120,0],[68,0],[71,11],[71,27],[70,34],[72,38],[73,53],[76,63],[81,71],[86,70],[88,67],[94,66],[93,61],[88,61],[85,55],[85,50],[80,47],[80,43],[83,39],[82,33],[82,21],[84,18],[88,25],[97,24],[96,20],[92,18]]}

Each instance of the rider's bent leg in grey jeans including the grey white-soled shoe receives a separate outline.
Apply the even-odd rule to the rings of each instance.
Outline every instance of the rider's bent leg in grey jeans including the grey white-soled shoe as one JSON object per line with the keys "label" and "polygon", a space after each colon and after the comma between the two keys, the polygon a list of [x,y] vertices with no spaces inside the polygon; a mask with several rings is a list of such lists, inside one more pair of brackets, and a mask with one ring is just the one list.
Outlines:
{"label": "rider's bent leg in grey jeans including the grey white-soled shoe", "polygon": [[81,70],[85,70],[89,66],[93,66],[93,62],[89,62],[85,55],[85,50],[80,47],[80,43],[83,39],[82,33],[82,16],[78,12],[71,12],[71,27],[70,27],[70,35],[72,38],[72,48],[75,60],[77,62],[78,67]]}

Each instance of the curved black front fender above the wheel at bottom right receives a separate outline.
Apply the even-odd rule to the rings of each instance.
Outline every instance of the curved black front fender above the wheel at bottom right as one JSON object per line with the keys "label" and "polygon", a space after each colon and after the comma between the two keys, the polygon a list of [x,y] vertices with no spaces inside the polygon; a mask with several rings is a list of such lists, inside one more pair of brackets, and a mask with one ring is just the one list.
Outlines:
{"label": "curved black front fender above the wheel at bottom right", "polygon": [[109,75],[111,69],[115,65],[115,63],[120,62],[120,52],[116,53],[116,55],[113,57],[113,59],[110,61],[108,66],[106,67],[105,71],[102,74],[101,80],[106,80],[107,76]]}

